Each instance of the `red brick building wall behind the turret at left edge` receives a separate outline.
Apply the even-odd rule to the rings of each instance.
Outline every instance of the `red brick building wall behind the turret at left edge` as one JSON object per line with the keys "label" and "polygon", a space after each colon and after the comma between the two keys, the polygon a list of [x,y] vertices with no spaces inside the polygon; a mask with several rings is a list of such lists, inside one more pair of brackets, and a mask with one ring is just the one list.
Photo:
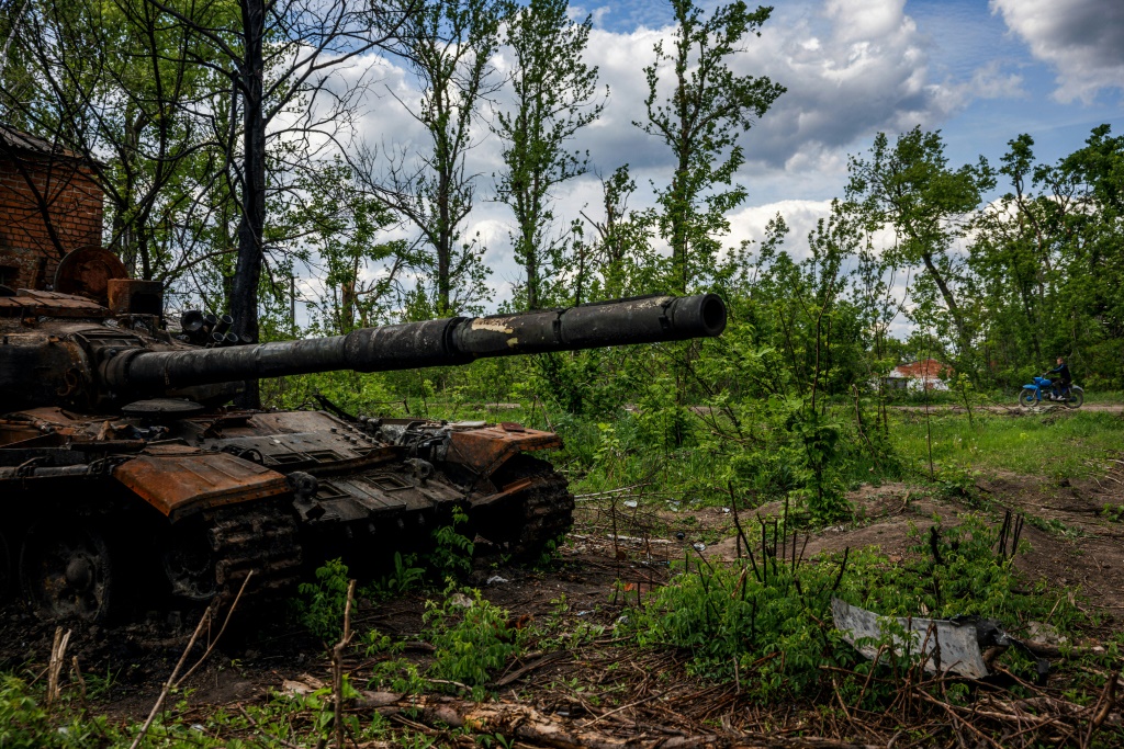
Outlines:
{"label": "red brick building wall behind the turret at left edge", "polygon": [[101,221],[102,192],[89,167],[35,153],[0,153],[0,283],[43,289],[63,253],[101,246]]}

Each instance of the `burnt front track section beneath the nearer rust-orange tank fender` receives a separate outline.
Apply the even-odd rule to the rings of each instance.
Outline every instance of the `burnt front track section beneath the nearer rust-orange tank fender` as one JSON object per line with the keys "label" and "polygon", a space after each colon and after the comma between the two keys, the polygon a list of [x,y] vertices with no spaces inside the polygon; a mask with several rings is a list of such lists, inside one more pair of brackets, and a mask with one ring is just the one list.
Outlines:
{"label": "burnt front track section beneath the nearer rust-orange tank fender", "polygon": [[296,590],[301,572],[297,520],[288,501],[248,502],[215,510],[207,539],[215,558],[218,595],[232,602],[254,576],[238,608],[268,605]]}

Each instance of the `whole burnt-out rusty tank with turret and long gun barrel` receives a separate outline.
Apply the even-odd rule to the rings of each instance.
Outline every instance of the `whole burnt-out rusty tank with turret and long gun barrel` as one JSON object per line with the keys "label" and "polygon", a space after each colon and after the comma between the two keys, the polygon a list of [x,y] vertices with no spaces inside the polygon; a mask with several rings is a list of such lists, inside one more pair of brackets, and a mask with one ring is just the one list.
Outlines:
{"label": "whole burnt-out rusty tank with turret and long gun barrel", "polygon": [[534,558],[571,524],[565,478],[532,455],[556,435],[227,404],[251,380],[682,340],[726,321],[713,294],[647,296],[252,345],[199,312],[166,329],[160,284],[99,252],[67,256],[54,291],[0,287],[0,592],[44,618],[244,588],[243,610],[325,559],[424,550],[454,509],[478,554]]}

